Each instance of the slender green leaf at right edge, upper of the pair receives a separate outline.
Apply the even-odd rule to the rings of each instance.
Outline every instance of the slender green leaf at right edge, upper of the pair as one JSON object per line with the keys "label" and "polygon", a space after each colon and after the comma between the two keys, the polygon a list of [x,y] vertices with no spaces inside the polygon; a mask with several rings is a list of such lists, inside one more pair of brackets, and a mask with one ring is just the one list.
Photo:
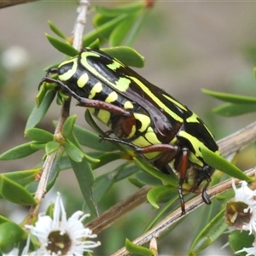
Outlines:
{"label": "slender green leaf at right edge, upper of the pair", "polygon": [[224,93],[220,91],[207,90],[207,89],[202,89],[202,92],[224,102],[231,102],[231,103],[237,103],[237,104],[247,104],[247,103],[256,104],[256,97],[252,97],[252,96],[241,96],[238,94]]}

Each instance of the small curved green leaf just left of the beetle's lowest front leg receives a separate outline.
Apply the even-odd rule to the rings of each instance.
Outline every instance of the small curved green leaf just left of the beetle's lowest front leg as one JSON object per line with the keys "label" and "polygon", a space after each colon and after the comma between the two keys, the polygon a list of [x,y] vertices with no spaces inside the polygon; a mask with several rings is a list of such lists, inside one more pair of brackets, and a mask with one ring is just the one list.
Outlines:
{"label": "small curved green leaf just left of the beetle's lowest front leg", "polygon": [[170,200],[177,196],[177,188],[170,186],[158,186],[148,191],[147,199],[152,207],[159,209],[158,203]]}

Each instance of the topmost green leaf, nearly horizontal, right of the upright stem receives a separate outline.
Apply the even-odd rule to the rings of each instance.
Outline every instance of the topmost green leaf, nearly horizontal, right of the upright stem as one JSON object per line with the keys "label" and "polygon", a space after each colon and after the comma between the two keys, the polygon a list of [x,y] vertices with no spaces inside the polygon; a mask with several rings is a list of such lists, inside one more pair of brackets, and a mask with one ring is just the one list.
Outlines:
{"label": "topmost green leaf, nearly horizontal, right of the upright stem", "polygon": [[122,14],[135,14],[140,12],[145,7],[146,4],[144,2],[139,2],[122,4],[119,7],[112,9],[108,9],[102,6],[96,6],[94,9],[97,13],[101,14],[102,16],[115,17]]}

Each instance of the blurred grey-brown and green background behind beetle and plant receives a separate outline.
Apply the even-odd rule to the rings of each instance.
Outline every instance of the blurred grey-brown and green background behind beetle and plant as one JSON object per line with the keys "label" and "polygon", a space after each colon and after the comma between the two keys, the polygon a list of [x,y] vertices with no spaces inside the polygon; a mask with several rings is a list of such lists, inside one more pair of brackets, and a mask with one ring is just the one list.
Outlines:
{"label": "blurred grey-brown and green background behind beetle and plant", "polygon": [[[91,1],[91,6],[114,7],[118,4],[116,1]],[[63,58],[44,36],[44,32],[52,34],[47,20],[52,20],[71,35],[77,6],[75,1],[39,1],[0,9],[0,153],[27,142],[23,131],[35,105],[38,83],[44,77],[43,69]],[[218,117],[211,113],[211,109],[220,102],[203,95],[201,88],[256,95],[255,57],[249,55],[249,49],[256,46],[255,13],[256,4],[249,2],[156,2],[133,45],[146,59],[145,67],[137,72],[195,111],[217,139],[225,137],[253,122],[255,114],[230,119]],[[87,16],[85,32],[92,28],[92,17],[93,14]],[[20,61],[22,65],[15,66],[19,58],[23,60]],[[52,120],[58,119],[60,109],[57,105],[51,107],[40,127],[54,131]],[[84,121],[84,108],[75,107],[75,101],[71,109],[71,114],[74,113],[78,114],[78,124],[88,127]],[[25,160],[1,161],[0,172],[30,169],[41,157],[39,152]],[[247,169],[253,165],[255,151],[251,147],[241,153],[238,166]],[[108,195],[109,201],[102,203],[102,212],[115,201],[137,191],[128,181],[119,183],[114,189]],[[67,212],[82,207],[82,196],[73,172],[61,172],[55,186],[57,190],[66,196]],[[21,207],[20,212],[15,210],[14,214],[12,211],[17,207],[1,201],[0,209],[4,216],[13,214],[13,219],[22,219],[24,209]],[[126,236],[131,240],[139,236],[150,214],[154,216],[154,210],[148,205],[139,207],[111,229],[103,231],[99,240],[105,251],[100,247],[96,255],[110,255],[124,244]],[[189,215],[192,224],[187,220],[187,225],[178,226],[172,232],[175,237],[169,235],[161,241],[161,255],[186,254],[189,240],[200,228],[200,214]],[[224,243],[220,241],[217,247]],[[203,255],[213,254],[216,255],[215,247],[207,249]],[[218,255],[229,255],[229,252],[218,251]]]}

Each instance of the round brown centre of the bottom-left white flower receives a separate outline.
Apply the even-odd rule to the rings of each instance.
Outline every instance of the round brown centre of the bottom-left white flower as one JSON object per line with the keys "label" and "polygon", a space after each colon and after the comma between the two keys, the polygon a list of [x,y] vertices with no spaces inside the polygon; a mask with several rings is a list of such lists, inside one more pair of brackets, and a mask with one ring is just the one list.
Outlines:
{"label": "round brown centre of the bottom-left white flower", "polygon": [[67,255],[72,241],[67,233],[56,230],[49,233],[47,250],[52,255]]}

